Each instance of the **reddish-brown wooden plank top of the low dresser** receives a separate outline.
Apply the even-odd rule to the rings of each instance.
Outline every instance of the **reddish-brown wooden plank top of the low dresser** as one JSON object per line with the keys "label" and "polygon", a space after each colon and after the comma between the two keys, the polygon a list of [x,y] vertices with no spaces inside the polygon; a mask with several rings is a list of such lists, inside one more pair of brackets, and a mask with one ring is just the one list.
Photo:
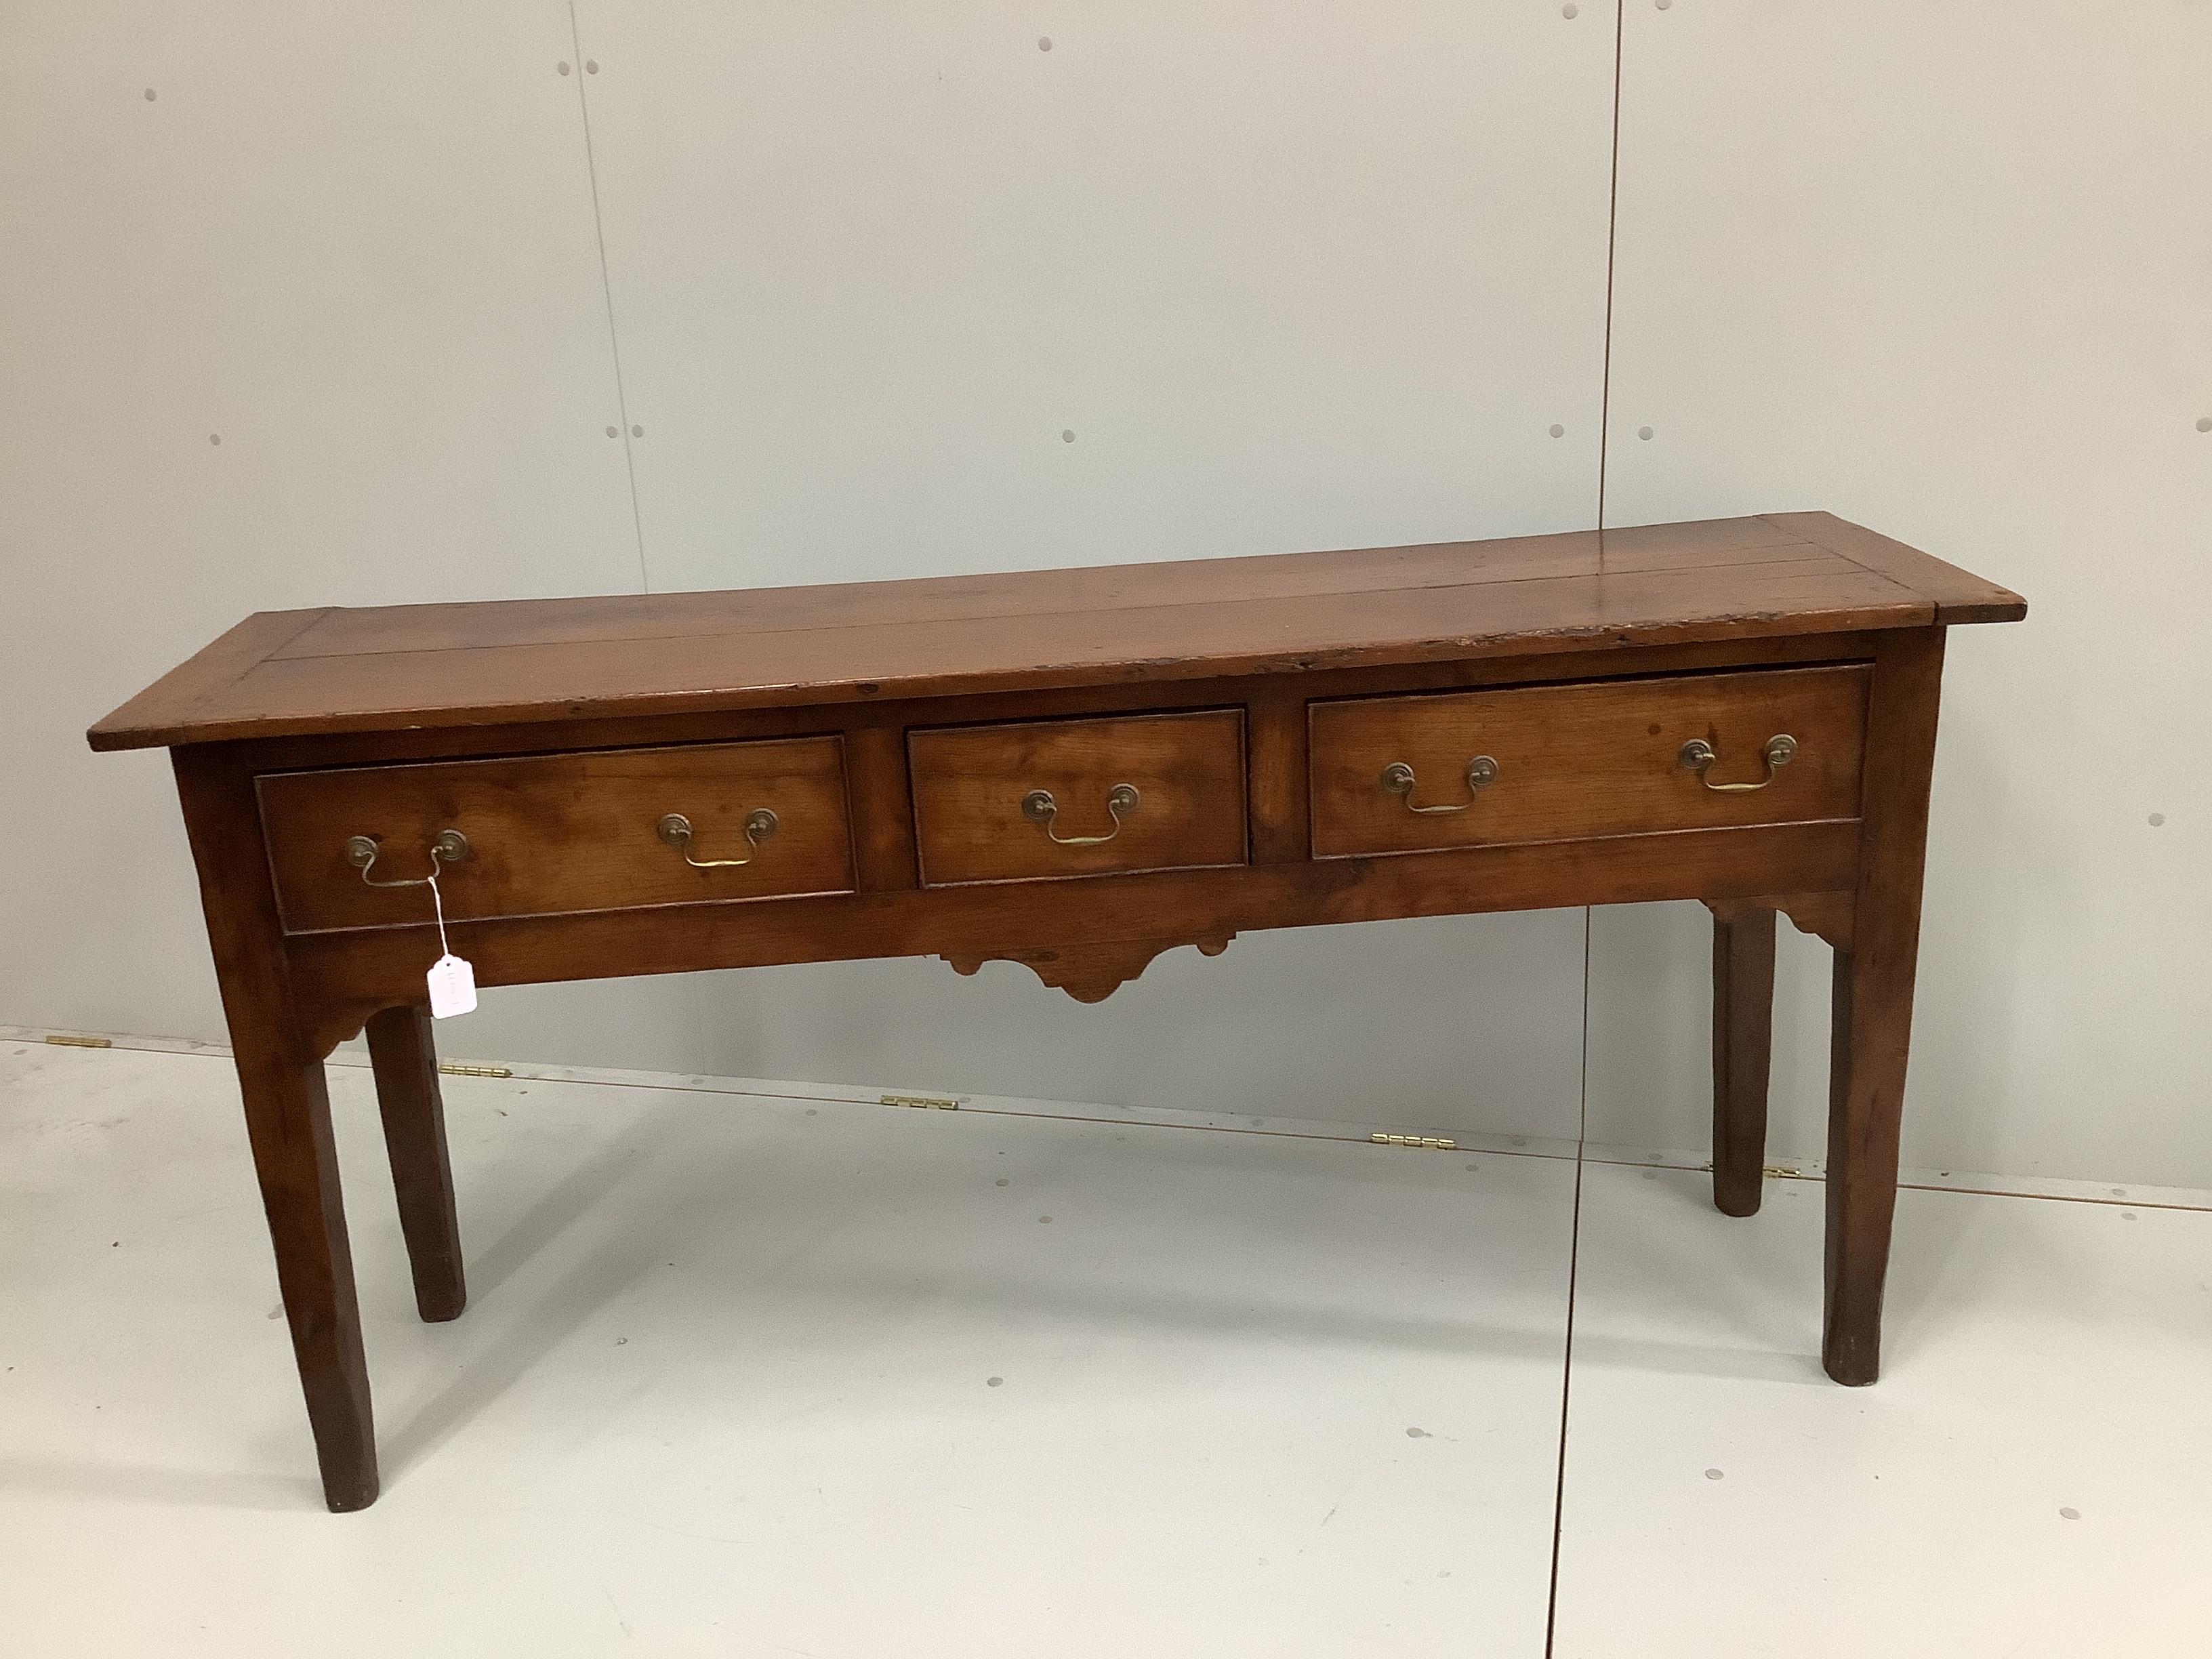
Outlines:
{"label": "reddish-brown wooden plank top of the low dresser", "polygon": [[737,593],[248,617],[95,750],[2013,622],[1829,513]]}

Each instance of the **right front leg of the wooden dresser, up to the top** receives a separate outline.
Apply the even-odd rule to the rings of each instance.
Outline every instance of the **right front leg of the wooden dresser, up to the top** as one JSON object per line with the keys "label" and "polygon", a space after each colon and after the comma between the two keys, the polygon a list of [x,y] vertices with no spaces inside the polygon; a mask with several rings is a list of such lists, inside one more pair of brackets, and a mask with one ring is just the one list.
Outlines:
{"label": "right front leg of the wooden dresser, up to the top", "polygon": [[1876,653],[1854,938],[1849,951],[1836,951],[1829,1035],[1820,1360],[1849,1385],[1874,1383],[1882,1369],[1882,1281],[1898,1206],[1940,681],[1940,628],[1891,635]]}

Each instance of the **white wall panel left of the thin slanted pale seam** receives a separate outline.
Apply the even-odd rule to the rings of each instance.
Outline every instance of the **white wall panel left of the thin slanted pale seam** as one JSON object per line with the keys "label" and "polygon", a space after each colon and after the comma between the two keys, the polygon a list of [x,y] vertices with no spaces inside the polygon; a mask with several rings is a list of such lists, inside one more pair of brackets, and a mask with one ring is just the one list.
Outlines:
{"label": "white wall panel left of the thin slanted pale seam", "polygon": [[219,1035],[166,757],[82,732],[248,611],[637,586],[571,55],[560,0],[7,7],[4,1018]]}

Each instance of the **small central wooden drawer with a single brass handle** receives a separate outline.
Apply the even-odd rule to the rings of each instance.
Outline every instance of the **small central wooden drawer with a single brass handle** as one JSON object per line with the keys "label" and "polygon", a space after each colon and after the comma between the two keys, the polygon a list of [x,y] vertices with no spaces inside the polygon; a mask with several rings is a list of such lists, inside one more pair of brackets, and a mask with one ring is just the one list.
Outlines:
{"label": "small central wooden drawer with a single brass handle", "polygon": [[922,885],[1245,863],[1243,710],[907,732]]}

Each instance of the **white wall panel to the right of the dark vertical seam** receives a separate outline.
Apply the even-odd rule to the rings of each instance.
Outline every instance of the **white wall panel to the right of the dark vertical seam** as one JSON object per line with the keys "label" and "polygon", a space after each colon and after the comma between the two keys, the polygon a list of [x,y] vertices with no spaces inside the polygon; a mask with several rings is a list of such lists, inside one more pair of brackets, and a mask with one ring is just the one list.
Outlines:
{"label": "white wall panel to the right of the dark vertical seam", "polygon": [[[2031,604],[1951,635],[1911,1166],[2212,1183],[2208,69],[2201,4],[1626,13],[1606,520],[1825,507]],[[1699,1146],[1701,914],[1595,927],[1590,1133]]]}

